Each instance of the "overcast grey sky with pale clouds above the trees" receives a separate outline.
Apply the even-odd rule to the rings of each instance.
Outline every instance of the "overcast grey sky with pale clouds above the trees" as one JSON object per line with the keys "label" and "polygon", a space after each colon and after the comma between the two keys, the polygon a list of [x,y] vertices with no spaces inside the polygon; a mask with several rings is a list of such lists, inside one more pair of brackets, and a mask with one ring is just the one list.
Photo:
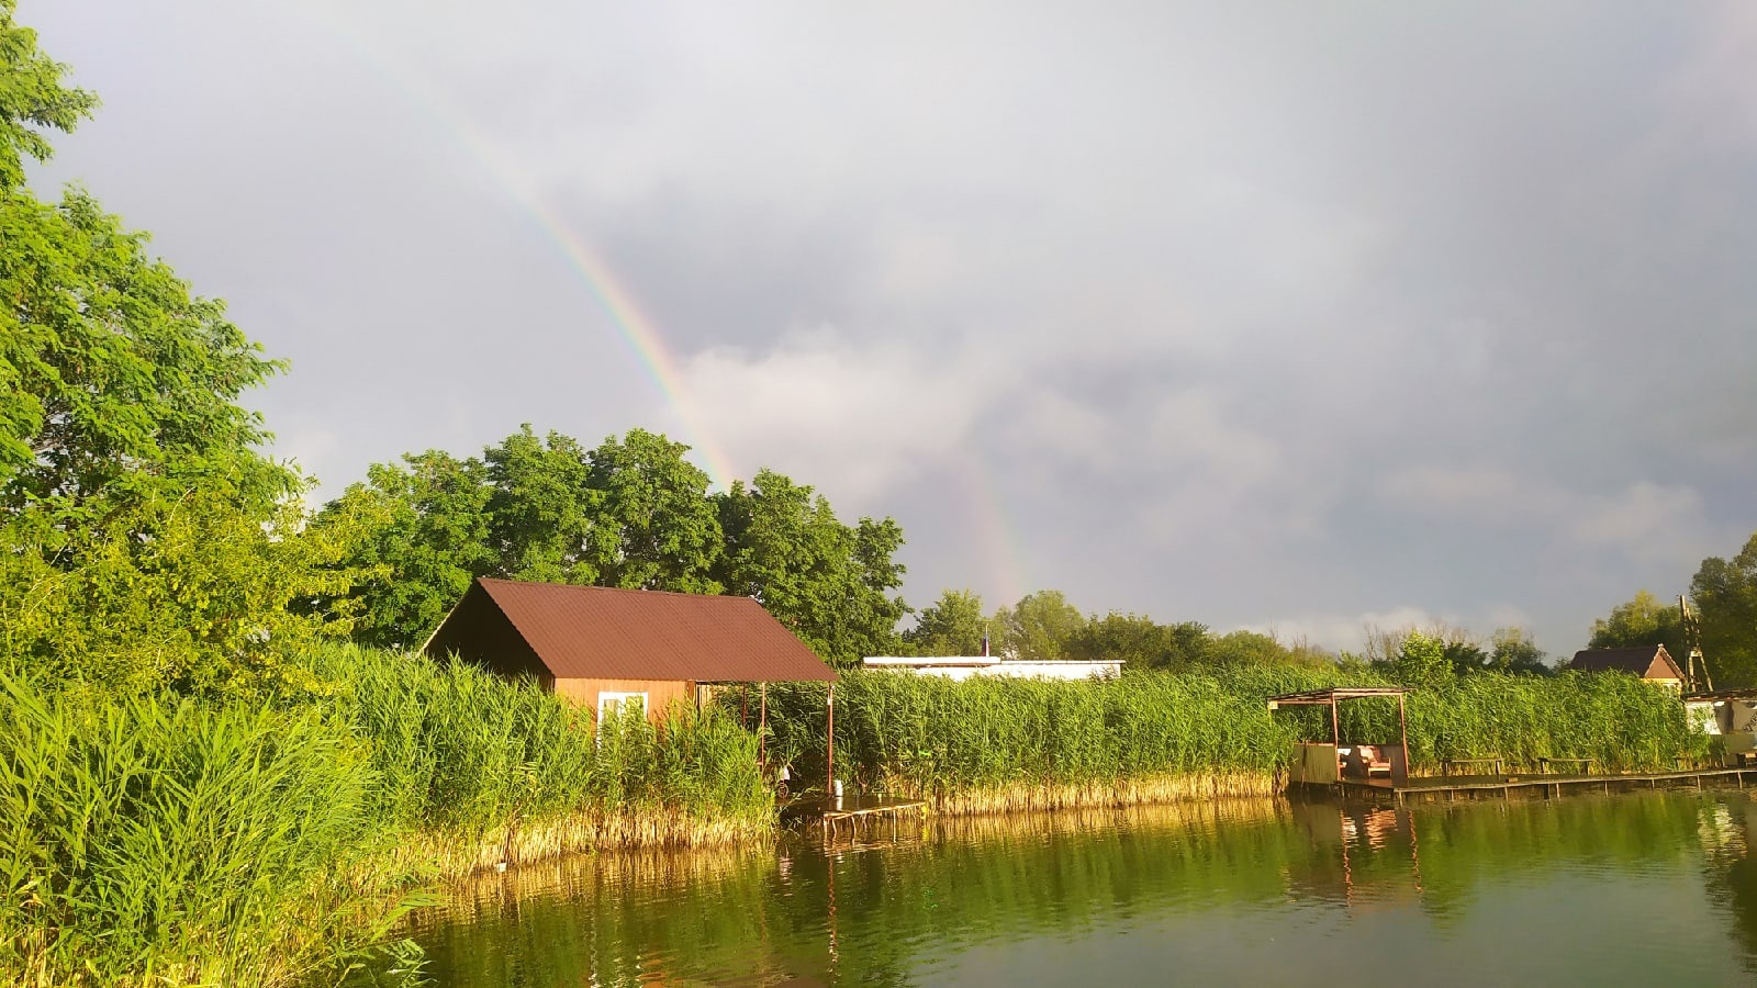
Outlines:
{"label": "overcast grey sky with pale clouds above the trees", "polygon": [[[1757,7],[23,0],[332,496],[532,422],[905,594],[1553,654],[1757,529]],[[668,396],[569,258],[650,316]]]}

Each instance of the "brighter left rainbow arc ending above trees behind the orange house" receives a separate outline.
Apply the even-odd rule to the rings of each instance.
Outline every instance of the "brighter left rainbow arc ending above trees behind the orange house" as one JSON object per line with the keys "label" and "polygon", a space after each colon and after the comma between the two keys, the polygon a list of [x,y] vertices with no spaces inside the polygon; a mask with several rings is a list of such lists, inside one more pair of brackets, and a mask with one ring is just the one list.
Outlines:
{"label": "brighter left rainbow arc ending above trees behind the orange house", "polygon": [[580,283],[585,285],[604,315],[610,316],[611,325],[629,345],[629,350],[641,367],[647,369],[666,404],[671,406],[671,411],[682,422],[687,441],[701,457],[701,466],[706,469],[708,480],[722,490],[727,489],[736,476],[731,457],[713,440],[713,434],[703,422],[701,411],[689,399],[678,360],[671,346],[666,345],[664,336],[661,336],[659,325],[641,311],[634,301],[634,294],[622,285],[610,265],[582,237],[568,229],[560,216],[543,202],[541,195],[520,179],[518,169],[494,149],[494,142],[445,93],[430,86],[418,72],[401,65],[395,56],[374,47],[339,19],[325,16],[318,9],[304,9],[300,12],[339,39],[362,65],[387,79],[409,97],[415,105],[432,116],[483,167],[488,178],[494,179],[494,185],[518,206],[520,213],[531,220],[545,239],[557,248],[580,278]]}

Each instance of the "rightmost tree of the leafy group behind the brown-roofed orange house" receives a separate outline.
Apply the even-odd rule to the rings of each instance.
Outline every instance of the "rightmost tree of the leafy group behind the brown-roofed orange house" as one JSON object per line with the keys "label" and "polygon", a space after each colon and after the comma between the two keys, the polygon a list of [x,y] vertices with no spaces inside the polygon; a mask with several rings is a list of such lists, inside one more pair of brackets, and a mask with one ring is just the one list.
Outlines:
{"label": "rightmost tree of the leafy group behind the brown-roofed orange house", "polygon": [[903,584],[893,561],[903,529],[891,519],[836,520],[821,494],[763,469],[748,487],[715,496],[726,550],[717,580],[729,594],[756,598],[829,663],[896,650]]}

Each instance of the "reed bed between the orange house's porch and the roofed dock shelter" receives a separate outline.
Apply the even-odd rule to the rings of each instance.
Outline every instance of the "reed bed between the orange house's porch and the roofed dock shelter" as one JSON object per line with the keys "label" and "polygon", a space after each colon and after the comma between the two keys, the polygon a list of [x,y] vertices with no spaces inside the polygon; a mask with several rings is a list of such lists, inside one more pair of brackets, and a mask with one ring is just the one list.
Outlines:
{"label": "reed bed between the orange house's porch and the roofed dock shelter", "polygon": [[[822,786],[824,687],[771,687],[775,749]],[[1293,740],[1214,679],[968,679],[843,673],[836,774],[942,812],[1263,795]]]}

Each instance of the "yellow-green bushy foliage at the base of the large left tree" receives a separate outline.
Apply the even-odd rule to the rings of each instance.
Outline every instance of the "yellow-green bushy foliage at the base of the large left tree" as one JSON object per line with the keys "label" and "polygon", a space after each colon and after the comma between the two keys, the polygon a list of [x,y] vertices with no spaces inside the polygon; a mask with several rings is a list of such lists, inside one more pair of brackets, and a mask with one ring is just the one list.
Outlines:
{"label": "yellow-green bushy foliage at the base of the large left tree", "polygon": [[285,506],[264,526],[218,496],[116,513],[49,554],[0,554],[0,656],[56,682],[118,693],[311,687],[288,656],[346,631],[346,612],[299,608],[339,594],[330,566],[346,524],[300,531]]}

